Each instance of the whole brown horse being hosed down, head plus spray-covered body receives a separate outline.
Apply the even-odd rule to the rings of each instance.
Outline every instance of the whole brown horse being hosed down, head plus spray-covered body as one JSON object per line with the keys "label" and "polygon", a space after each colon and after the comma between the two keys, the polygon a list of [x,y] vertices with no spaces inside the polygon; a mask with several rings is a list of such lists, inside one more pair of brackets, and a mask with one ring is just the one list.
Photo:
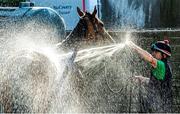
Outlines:
{"label": "whole brown horse being hosed down, head plus spray-covered body", "polygon": [[[105,30],[103,22],[96,17],[96,7],[92,13],[83,12],[77,7],[77,12],[80,16],[77,26],[57,46],[67,50],[74,48],[79,50],[84,47],[115,43]],[[69,59],[68,63],[72,65],[67,66],[63,72],[65,78],[62,80],[65,81],[57,84],[54,83],[58,75],[57,67],[43,53],[21,51],[7,60],[6,67],[2,69],[1,74],[1,78],[5,78],[1,80],[0,84],[2,112],[51,112],[52,110],[66,112],[66,109],[69,110],[71,105],[72,108],[75,106],[74,104],[77,107],[82,105],[80,101],[85,89],[85,80],[82,79],[81,71],[74,64],[76,54],[74,52]],[[50,89],[57,88],[56,86],[64,88],[58,95],[55,89]]]}

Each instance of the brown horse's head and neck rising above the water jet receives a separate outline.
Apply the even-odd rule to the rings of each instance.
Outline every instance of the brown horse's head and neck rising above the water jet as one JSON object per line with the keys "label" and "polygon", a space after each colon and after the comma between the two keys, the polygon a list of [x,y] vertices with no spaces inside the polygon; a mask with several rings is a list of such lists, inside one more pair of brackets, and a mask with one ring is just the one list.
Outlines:
{"label": "brown horse's head and neck rising above the water jet", "polygon": [[103,22],[96,17],[96,7],[94,7],[92,13],[83,12],[77,7],[77,12],[80,17],[78,24],[58,46],[65,49],[81,49],[115,43],[113,38],[105,30]]}

